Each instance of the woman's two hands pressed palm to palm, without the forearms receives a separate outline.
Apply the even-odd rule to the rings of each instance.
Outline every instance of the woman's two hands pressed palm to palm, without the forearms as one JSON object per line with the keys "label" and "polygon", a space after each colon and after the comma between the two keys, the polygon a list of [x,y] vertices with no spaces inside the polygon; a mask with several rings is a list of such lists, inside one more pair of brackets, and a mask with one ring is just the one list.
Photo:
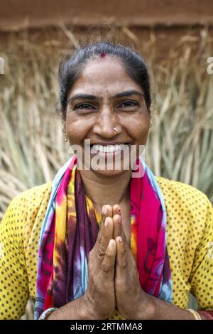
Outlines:
{"label": "woman's two hands pressed palm to palm, without the forearms", "polygon": [[84,294],[91,318],[109,318],[115,309],[126,319],[143,310],[150,298],[140,286],[138,269],[126,242],[119,205],[104,205],[97,242],[89,253],[89,277]]}

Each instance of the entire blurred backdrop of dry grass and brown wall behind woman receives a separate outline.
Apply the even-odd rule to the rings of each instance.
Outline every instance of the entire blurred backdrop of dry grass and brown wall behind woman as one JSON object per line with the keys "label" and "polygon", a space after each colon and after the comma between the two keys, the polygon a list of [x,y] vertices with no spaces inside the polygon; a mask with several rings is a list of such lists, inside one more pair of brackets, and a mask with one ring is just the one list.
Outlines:
{"label": "entire blurred backdrop of dry grass and brown wall behind woman", "polygon": [[[148,166],[213,201],[211,0],[0,0],[0,220],[15,195],[52,180],[70,157],[56,112],[58,65],[103,39],[134,46],[148,63]],[[32,317],[30,301],[23,318]]]}

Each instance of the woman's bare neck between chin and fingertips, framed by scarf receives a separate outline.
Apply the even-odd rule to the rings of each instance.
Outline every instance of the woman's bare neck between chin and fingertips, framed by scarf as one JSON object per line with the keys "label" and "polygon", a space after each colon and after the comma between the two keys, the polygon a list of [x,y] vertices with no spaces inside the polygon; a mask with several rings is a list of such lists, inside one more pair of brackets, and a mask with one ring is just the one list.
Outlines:
{"label": "woman's bare neck between chin and fingertips, framed by scarf", "polygon": [[115,205],[129,200],[129,181],[131,171],[124,171],[120,176],[99,176],[94,171],[80,171],[86,195],[94,207],[102,212],[105,204]]}

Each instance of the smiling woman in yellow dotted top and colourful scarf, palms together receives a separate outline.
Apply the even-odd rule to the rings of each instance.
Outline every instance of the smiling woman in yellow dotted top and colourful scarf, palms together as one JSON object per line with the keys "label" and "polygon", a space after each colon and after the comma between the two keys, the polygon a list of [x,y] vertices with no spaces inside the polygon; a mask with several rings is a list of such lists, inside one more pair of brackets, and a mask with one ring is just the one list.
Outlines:
{"label": "smiling woman in yellow dotted top and colourful scarf, palms together", "polygon": [[[212,205],[141,161],[151,124],[141,56],[104,42],[76,50],[60,67],[60,102],[76,153],[6,211],[1,318],[19,318],[28,296],[35,319],[213,318]],[[189,291],[201,311],[187,309]]]}

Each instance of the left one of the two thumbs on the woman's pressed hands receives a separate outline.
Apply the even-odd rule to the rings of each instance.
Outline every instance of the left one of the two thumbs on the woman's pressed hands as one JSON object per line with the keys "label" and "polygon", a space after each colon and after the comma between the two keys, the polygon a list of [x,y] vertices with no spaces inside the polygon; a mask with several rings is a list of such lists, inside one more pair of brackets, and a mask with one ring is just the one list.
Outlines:
{"label": "left one of the two thumbs on the woman's pressed hands", "polygon": [[116,242],[114,239],[109,240],[107,250],[102,262],[102,280],[113,280],[114,281],[114,266],[116,261]]}

